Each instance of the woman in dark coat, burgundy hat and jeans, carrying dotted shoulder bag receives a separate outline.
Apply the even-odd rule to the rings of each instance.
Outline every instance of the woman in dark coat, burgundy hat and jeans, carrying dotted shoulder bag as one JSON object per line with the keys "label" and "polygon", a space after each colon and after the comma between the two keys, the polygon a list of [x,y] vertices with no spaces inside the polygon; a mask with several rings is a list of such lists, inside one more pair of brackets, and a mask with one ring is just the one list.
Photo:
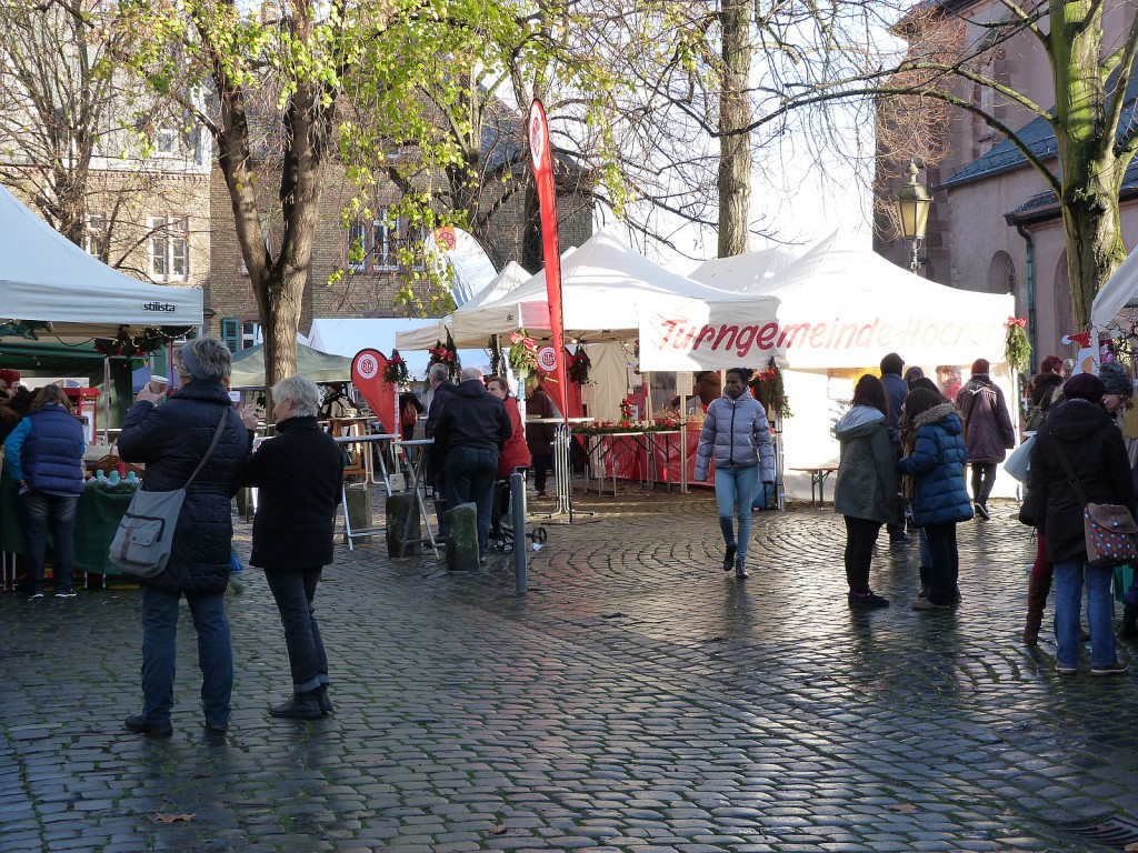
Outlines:
{"label": "woman in dark coat, burgundy hat and jeans, carrying dotted shoulder bag", "polygon": [[[1095,676],[1125,672],[1118,660],[1111,624],[1113,570],[1087,563],[1083,504],[1071,483],[1094,504],[1119,504],[1135,513],[1122,433],[1103,408],[1106,389],[1090,373],[1079,373],[1063,386],[1065,403],[1050,409],[1031,448],[1028,480],[1029,517],[1044,531],[1047,556],[1055,564],[1055,668],[1059,674],[1079,671],[1079,608],[1086,579],[1090,622],[1090,671]],[[1064,464],[1065,461],[1065,464]]]}

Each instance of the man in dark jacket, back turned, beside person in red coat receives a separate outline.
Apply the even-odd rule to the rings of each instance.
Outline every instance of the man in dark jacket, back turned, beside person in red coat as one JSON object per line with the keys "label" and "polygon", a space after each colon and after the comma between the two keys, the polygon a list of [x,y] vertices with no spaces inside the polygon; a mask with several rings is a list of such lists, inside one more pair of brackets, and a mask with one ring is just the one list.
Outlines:
{"label": "man in dark jacket, back turned, beside person in red coat", "polygon": [[513,434],[510,415],[486,390],[477,367],[462,371],[462,382],[447,397],[435,425],[435,441],[445,454],[447,506],[475,503],[478,507],[478,556],[489,548],[490,514],[497,457]]}

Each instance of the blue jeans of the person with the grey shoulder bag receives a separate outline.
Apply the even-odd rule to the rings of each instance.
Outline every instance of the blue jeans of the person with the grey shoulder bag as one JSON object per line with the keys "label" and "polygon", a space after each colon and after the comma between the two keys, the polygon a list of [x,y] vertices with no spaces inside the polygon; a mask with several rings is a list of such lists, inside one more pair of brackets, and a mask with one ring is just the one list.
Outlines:
{"label": "blue jeans of the person with the grey shoulder bag", "polygon": [[[142,719],[170,722],[174,706],[179,593],[142,586]],[[225,594],[185,594],[198,632],[201,710],[207,723],[228,723],[233,693],[233,648],[225,620]]]}

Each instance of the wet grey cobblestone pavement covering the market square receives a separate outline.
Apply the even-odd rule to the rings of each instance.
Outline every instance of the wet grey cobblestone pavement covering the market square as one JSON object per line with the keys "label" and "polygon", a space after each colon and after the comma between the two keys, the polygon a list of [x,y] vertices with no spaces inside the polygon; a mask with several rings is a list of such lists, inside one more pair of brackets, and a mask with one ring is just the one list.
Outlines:
{"label": "wet grey cobblestone pavement covering the market square", "polygon": [[228,601],[226,736],[199,727],[188,612],[175,731],[160,740],[122,729],[140,703],[137,591],[0,595],[0,851],[1138,840],[1135,671],[1091,678],[1085,654],[1061,680],[1049,630],[1036,649],[1019,643],[1034,545],[1011,504],[960,525],[951,613],[909,608],[915,544],[879,546],[873,582],[893,606],[851,613],[828,511],[757,514],[740,582],[721,571],[706,492],[585,507],[592,523],[549,525],[525,597],[504,558],[455,575],[389,561],[381,539],[339,547],[318,598],[337,713],[311,723],[265,713],[289,677],[255,570]]}

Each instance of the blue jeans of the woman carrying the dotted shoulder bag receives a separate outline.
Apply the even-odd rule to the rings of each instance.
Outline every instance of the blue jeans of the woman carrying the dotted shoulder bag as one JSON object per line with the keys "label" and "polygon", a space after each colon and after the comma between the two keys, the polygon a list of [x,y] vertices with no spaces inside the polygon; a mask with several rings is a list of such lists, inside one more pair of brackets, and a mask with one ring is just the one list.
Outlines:
{"label": "blue jeans of the woman carrying the dotted shoulder bag", "polygon": [[1090,664],[1108,666],[1118,660],[1114,627],[1111,624],[1113,569],[1087,565],[1085,556],[1055,563],[1056,660],[1062,666],[1079,663],[1079,605],[1082,604],[1083,572],[1087,580],[1087,619],[1090,622]]}

